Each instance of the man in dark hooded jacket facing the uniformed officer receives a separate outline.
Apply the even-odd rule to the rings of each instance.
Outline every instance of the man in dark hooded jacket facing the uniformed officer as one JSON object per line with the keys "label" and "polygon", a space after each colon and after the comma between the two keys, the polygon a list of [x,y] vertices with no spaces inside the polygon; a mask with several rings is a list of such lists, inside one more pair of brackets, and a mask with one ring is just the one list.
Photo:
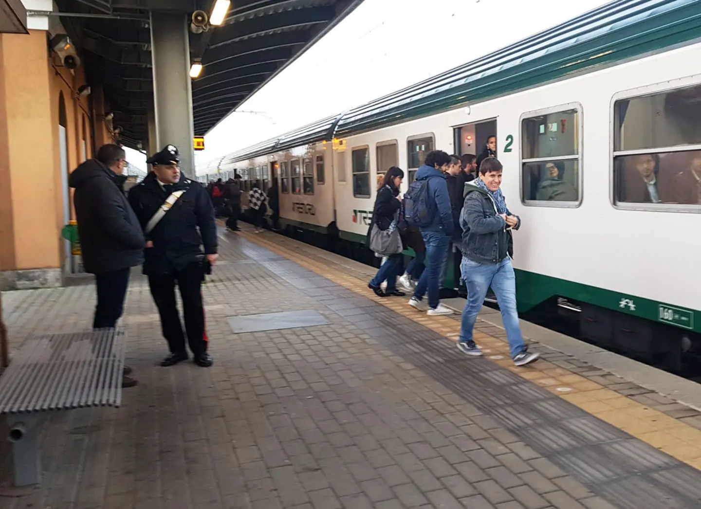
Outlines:
{"label": "man in dark hooded jacket facing the uniformed officer", "polygon": [[[122,147],[107,144],[97,158],[81,164],[68,179],[74,188],[78,235],[83,266],[95,274],[97,306],[94,329],[114,329],[124,311],[131,268],[144,262],[144,234],[124,194],[126,154]],[[123,387],[137,381],[126,376]]]}

